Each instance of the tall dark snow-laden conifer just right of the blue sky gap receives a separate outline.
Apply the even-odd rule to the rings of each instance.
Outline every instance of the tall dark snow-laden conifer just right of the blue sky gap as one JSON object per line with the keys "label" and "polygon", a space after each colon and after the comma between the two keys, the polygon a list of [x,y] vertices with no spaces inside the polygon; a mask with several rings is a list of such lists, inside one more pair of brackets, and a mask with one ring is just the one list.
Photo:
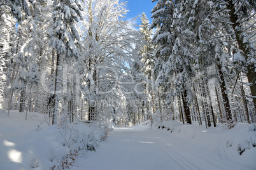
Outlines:
{"label": "tall dark snow-laden conifer just right of the blue sky gap", "polygon": [[[173,93],[181,95],[186,120],[191,124],[189,105],[192,101],[192,93],[187,82],[189,77],[195,75],[191,65],[193,46],[190,44],[196,36],[190,29],[193,17],[187,16],[188,10],[191,10],[190,3],[190,1],[184,4],[179,1],[159,1],[152,10],[151,27],[160,25],[159,32],[153,37],[153,42],[159,44],[157,52],[164,56],[159,80],[171,81],[174,75]],[[159,6],[160,9],[157,9]],[[170,84],[166,84],[166,88],[170,88]]]}

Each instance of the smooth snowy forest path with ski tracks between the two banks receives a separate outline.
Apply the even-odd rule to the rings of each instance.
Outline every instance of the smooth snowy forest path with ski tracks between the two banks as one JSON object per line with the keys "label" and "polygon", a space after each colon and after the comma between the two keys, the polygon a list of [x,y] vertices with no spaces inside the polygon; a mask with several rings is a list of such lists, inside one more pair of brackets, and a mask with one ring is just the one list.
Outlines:
{"label": "smooth snowy forest path with ski tracks between the two banks", "polygon": [[78,159],[71,169],[243,169],[220,160],[195,143],[148,126],[115,128],[97,152]]}

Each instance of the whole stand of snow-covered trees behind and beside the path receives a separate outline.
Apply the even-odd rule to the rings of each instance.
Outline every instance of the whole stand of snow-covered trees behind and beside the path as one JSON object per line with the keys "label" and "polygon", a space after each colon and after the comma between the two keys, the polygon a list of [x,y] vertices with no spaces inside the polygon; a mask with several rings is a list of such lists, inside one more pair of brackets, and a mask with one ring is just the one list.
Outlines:
{"label": "whole stand of snow-covered trees behind and beside the path", "polygon": [[[119,0],[0,2],[0,110],[10,120],[89,122],[100,140],[110,124],[256,123],[254,0],[152,0],[152,16],[131,21]],[[82,150],[72,146],[71,156]]]}

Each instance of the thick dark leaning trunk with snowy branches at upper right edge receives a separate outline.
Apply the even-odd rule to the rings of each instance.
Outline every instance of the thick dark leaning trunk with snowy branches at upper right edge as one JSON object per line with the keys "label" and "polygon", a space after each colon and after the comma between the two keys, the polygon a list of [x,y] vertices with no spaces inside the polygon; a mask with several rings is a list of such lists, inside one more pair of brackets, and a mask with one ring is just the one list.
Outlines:
{"label": "thick dark leaning trunk with snowy branches at upper right edge", "polygon": [[250,41],[250,37],[252,37],[253,34],[248,36],[245,32],[245,29],[249,29],[253,24],[246,28],[243,26],[244,22],[250,20],[256,15],[255,2],[254,6],[252,1],[244,2],[225,0],[225,3],[227,12],[229,13],[229,20],[227,22],[231,23],[239,49],[234,55],[234,61],[236,64],[238,64],[238,67],[241,68],[239,71],[246,72],[256,110],[255,46],[253,46],[252,42]]}

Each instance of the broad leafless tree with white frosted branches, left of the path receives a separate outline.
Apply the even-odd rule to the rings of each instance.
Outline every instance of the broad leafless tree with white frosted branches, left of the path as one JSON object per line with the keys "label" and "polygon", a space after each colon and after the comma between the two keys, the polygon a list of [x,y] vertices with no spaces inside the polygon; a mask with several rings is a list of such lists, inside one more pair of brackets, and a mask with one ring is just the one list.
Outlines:
{"label": "broad leafless tree with white frosted branches, left of the path", "polygon": [[[133,86],[118,81],[124,74],[131,74],[127,64],[136,60],[133,44],[138,44],[140,36],[129,27],[130,22],[122,20],[127,12],[124,3],[88,0],[83,8],[79,72],[86,81],[82,88],[89,120],[106,120],[114,109],[115,114],[123,112],[118,103],[127,96],[125,91],[132,91]],[[103,107],[104,103],[108,105]]]}

